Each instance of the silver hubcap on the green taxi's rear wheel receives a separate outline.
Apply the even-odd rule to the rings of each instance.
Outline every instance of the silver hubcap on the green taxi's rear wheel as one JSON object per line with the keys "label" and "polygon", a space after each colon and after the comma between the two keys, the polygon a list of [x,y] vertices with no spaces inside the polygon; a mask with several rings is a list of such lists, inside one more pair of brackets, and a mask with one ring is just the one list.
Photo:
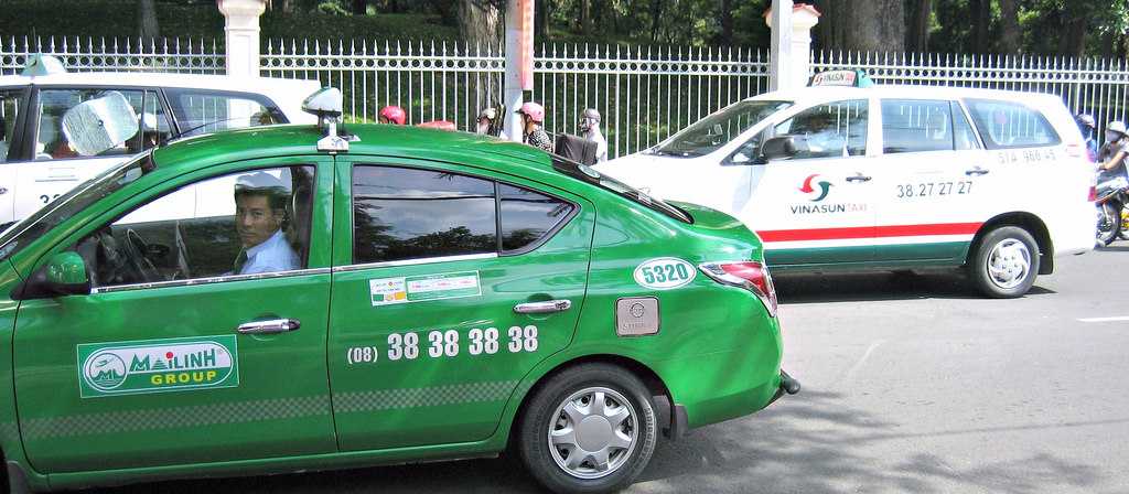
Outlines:
{"label": "silver hubcap on the green taxi's rear wheel", "polygon": [[549,423],[549,450],[569,475],[599,478],[627,462],[638,435],[631,403],[613,389],[592,387],[557,407]]}

